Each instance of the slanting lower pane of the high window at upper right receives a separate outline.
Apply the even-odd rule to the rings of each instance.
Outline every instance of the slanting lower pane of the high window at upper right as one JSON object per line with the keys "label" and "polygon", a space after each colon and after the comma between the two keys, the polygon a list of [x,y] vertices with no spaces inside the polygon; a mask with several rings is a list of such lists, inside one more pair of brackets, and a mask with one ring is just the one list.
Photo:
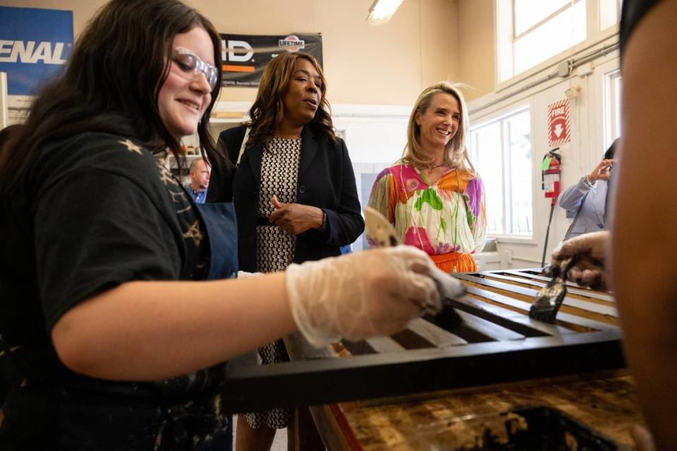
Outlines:
{"label": "slanting lower pane of the high window at upper right", "polygon": [[585,40],[585,0],[515,41],[515,74]]}

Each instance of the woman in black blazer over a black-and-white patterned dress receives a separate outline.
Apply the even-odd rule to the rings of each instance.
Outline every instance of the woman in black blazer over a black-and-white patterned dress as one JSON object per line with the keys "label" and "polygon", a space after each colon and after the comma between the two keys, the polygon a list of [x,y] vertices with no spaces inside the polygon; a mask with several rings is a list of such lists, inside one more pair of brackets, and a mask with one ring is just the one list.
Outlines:
{"label": "woman in black blazer over a black-and-white patterned dress", "polygon": [[[353,166],[334,134],[326,90],[315,58],[280,54],[264,70],[250,123],[219,137],[237,164],[234,170],[213,168],[207,202],[235,203],[242,271],[282,271],[291,263],[338,256],[364,230]],[[288,359],[281,340],[259,354],[264,363]],[[236,447],[269,447],[290,414],[247,414],[247,423],[238,424]]]}

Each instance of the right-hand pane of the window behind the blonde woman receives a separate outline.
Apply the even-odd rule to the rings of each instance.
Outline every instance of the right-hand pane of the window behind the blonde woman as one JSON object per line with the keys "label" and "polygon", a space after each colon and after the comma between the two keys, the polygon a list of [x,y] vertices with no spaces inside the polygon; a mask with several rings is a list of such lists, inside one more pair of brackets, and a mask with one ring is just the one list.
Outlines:
{"label": "right-hand pane of the window behind the blonde woman", "polygon": [[505,121],[508,135],[506,166],[506,206],[508,209],[508,233],[532,235],[532,190],[531,190],[531,122],[529,111],[511,116]]}

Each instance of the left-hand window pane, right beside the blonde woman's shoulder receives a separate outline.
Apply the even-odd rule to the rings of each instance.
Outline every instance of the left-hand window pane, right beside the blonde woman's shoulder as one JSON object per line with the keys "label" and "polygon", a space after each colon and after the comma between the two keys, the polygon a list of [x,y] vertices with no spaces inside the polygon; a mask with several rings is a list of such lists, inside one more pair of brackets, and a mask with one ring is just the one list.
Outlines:
{"label": "left-hand window pane, right beside the blonde woman's shoulder", "polygon": [[487,233],[502,235],[503,164],[501,158],[501,123],[495,122],[472,132],[477,172],[487,191]]}

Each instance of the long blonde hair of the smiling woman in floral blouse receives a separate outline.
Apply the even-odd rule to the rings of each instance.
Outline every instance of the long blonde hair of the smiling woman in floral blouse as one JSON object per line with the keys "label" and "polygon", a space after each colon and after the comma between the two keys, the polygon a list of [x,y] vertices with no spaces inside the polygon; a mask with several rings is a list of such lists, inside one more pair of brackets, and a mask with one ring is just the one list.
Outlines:
{"label": "long blonde hair of the smiling woman in floral blouse", "polygon": [[417,168],[426,168],[432,165],[432,156],[429,156],[421,144],[421,128],[416,123],[416,113],[425,114],[429,108],[432,97],[439,93],[451,94],[458,101],[461,109],[461,121],[458,122],[456,135],[446,144],[444,152],[444,162],[452,168],[463,168],[475,176],[475,166],[472,166],[470,155],[468,154],[468,145],[466,144],[466,133],[470,129],[468,121],[468,107],[465,105],[465,99],[461,90],[461,85],[451,82],[437,82],[434,85],[423,89],[418,96],[411,115],[409,116],[409,125],[407,127],[407,144],[404,147],[402,159],[406,163],[412,164]]}

